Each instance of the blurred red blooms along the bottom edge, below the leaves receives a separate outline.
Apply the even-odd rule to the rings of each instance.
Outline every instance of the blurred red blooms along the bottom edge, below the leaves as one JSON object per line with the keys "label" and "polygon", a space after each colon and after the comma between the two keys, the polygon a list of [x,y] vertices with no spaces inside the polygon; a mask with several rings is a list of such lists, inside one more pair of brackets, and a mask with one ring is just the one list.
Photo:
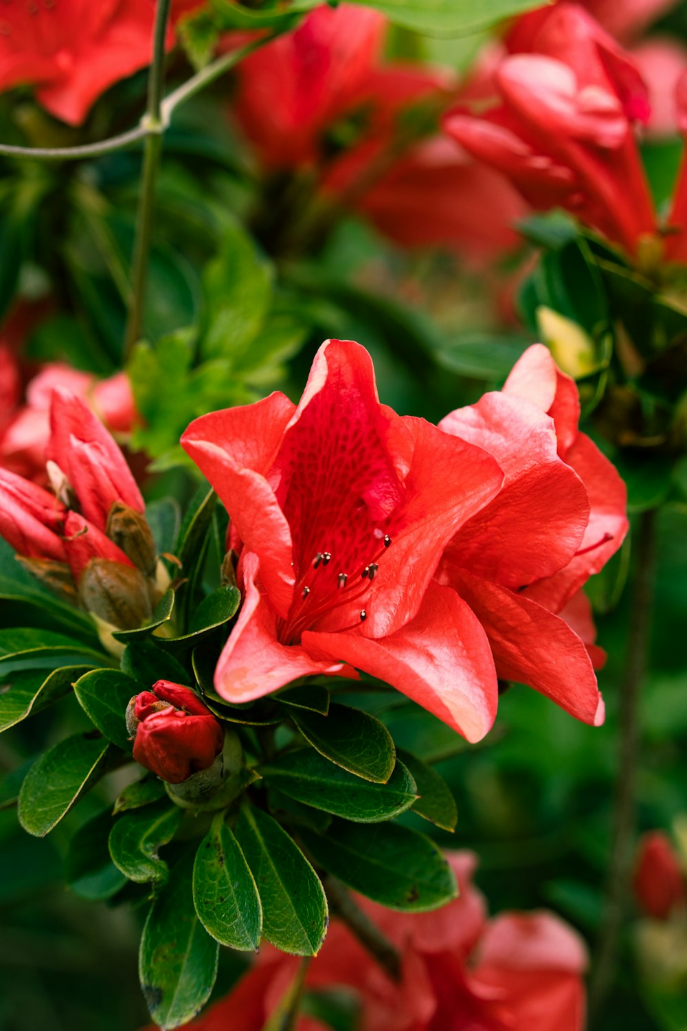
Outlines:
{"label": "blurred red blooms along the bottom edge, below the leaves", "polygon": [[[460,898],[436,913],[405,916],[357,899],[400,949],[391,982],[341,924],[330,928],[306,989],[345,988],[360,1004],[360,1031],[582,1031],[587,959],[557,917],[506,912],[488,920],[470,877],[474,857],[449,854]],[[435,933],[435,927],[437,931]],[[287,991],[298,960],[266,946],[253,969],[188,1031],[261,1031]],[[298,1031],[315,1031],[301,1018]]]}

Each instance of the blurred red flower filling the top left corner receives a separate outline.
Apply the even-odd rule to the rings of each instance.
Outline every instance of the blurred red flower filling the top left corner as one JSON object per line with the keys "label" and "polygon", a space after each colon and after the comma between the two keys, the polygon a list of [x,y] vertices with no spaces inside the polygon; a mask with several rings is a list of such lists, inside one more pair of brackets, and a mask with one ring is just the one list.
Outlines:
{"label": "blurred red flower filling the top left corner", "polygon": [[150,63],[153,23],[153,0],[4,0],[0,91],[35,86],[46,110],[80,125],[101,93]]}

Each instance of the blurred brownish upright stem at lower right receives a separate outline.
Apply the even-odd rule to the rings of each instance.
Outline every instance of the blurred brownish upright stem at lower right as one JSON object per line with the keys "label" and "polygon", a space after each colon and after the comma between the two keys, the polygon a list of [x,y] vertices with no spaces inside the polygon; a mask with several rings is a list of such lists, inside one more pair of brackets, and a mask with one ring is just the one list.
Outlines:
{"label": "blurred brownish upright stem at lower right", "polygon": [[[649,651],[654,593],[656,510],[640,517],[634,590],[629,619],[625,675],[620,694],[620,749],[616,779],[613,842],[609,862],[606,920],[602,927],[589,990],[590,1026],[600,1018],[613,984],[628,896],[637,821],[637,774],[640,751],[640,698]],[[599,1022],[599,1023],[596,1023]]]}

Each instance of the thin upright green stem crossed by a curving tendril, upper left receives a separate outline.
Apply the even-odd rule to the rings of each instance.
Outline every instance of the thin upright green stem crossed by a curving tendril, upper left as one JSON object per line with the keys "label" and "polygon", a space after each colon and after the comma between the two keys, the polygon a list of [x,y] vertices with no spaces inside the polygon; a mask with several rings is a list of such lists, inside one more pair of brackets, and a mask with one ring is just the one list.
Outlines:
{"label": "thin upright green stem crossed by a curving tendril, upper left", "polygon": [[165,36],[171,0],[158,0],[156,28],[152,42],[152,63],[148,74],[148,102],[141,125],[146,130],[141,173],[141,193],[136,217],[136,237],[132,259],[132,294],[127,319],[125,358],[138,340],[143,318],[145,287],[148,276],[150,239],[152,236],[152,213],[154,209],[158,168],[162,154],[162,89],[165,77]]}

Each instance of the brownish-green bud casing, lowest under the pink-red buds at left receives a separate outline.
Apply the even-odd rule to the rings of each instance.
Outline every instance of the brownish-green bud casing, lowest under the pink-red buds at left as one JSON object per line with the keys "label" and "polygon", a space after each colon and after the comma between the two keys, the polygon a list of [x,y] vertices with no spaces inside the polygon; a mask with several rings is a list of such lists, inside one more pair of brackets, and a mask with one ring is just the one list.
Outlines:
{"label": "brownish-green bud casing, lowest under the pink-red buds at left", "polygon": [[78,580],[83,606],[121,630],[136,630],[152,614],[145,577],[134,566],[91,559]]}

